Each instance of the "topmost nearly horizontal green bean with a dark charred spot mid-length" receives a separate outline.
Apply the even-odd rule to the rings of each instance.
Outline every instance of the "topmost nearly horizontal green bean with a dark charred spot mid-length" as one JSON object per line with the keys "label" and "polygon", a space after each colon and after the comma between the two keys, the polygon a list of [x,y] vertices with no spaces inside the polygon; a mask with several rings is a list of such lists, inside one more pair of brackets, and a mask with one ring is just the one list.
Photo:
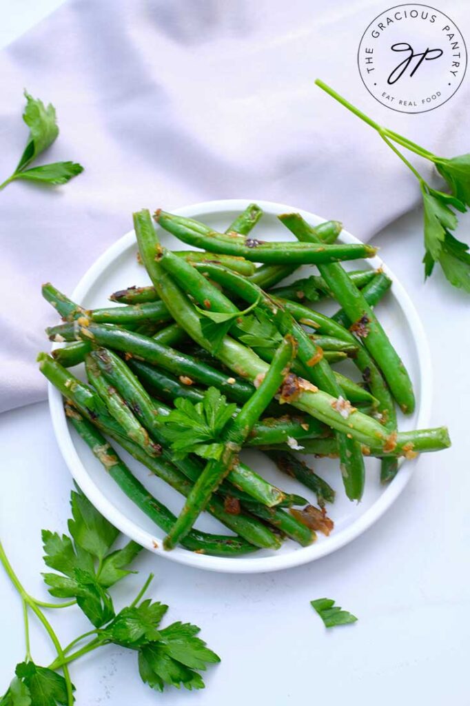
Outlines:
{"label": "topmost nearly horizontal green bean with a dark charred spot mid-length", "polygon": [[[252,262],[277,264],[318,264],[338,260],[356,260],[373,257],[376,249],[370,245],[308,245],[296,242],[264,243],[253,238],[222,234],[190,218],[157,211],[156,220],[165,230],[189,245],[226,255],[238,255]],[[341,230],[341,224],[330,221],[333,232]]]}

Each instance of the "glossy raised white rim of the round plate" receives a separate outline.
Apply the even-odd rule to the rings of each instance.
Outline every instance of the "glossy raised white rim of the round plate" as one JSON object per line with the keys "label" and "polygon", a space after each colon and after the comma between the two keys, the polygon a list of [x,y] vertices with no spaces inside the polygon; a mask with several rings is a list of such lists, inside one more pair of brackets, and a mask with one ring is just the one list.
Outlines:
{"label": "glossy raised white rim of the round plate", "polygon": [[[191,217],[198,213],[222,213],[227,210],[242,211],[249,203],[253,202],[258,203],[263,211],[272,215],[294,211],[296,213],[300,213],[302,217],[309,222],[325,222],[323,217],[306,210],[294,208],[290,205],[277,203],[275,201],[265,201],[263,199],[257,200],[237,198],[220,199],[217,201],[202,201],[200,203],[193,203],[174,209],[173,213],[176,215]],[[341,235],[342,240],[347,242],[359,242],[358,239],[347,230],[343,230]],[[109,265],[111,265],[114,260],[116,260],[116,258],[118,258],[124,251],[126,251],[126,249],[128,249],[129,246],[132,246],[134,243],[135,232],[131,230],[109,246],[109,248],[107,248],[92,263],[92,265],[90,265],[90,268],[88,268],[83,277],[81,277],[78,285],[73,290],[73,299],[80,303],[85,294],[90,290],[90,287],[95,284],[97,277],[99,277],[100,274]],[[392,270],[390,270],[390,268],[388,268],[378,256],[370,258],[368,263],[370,263],[373,268],[382,268],[384,272],[392,278],[392,290],[394,297],[397,299],[400,308],[409,322],[411,330],[414,332],[414,345],[419,351],[418,381],[416,381],[418,385],[415,383],[415,386],[419,389],[419,406],[416,426],[421,429],[426,428],[430,421],[433,381],[430,348],[423,324],[418,316],[418,312],[416,311],[413,301],[411,301],[411,298],[409,297],[409,294],[406,292],[406,289],[402,283],[392,273]],[[53,345],[52,349],[55,347],[57,347],[57,345]],[[218,571],[221,573],[266,573],[269,571],[282,570],[292,568],[294,566],[301,566],[302,564],[315,561],[316,559],[327,556],[327,554],[332,554],[334,551],[341,549],[342,546],[349,544],[349,542],[352,542],[356,539],[356,537],[359,537],[363,534],[363,532],[368,530],[368,528],[377,522],[385,511],[393,505],[406,485],[409,483],[411,475],[414,473],[416,465],[421,457],[421,455],[418,455],[416,459],[408,461],[406,465],[400,469],[399,474],[397,474],[390,485],[382,491],[380,497],[373,503],[373,505],[370,506],[370,508],[368,508],[368,510],[366,510],[365,513],[363,513],[363,515],[358,517],[352,525],[340,530],[338,534],[332,534],[327,541],[321,542],[320,544],[314,543],[310,546],[296,549],[289,554],[272,554],[272,556],[263,557],[256,557],[255,555],[252,555],[248,558],[243,556],[240,558],[207,556],[205,554],[195,554],[194,552],[183,549],[182,547],[176,547],[176,549],[172,551],[164,551],[160,537],[155,537],[150,532],[147,532],[147,530],[143,530],[135,525],[132,520],[126,517],[126,515],[114,506],[112,501],[104,496],[104,493],[102,493],[100,487],[97,486],[95,481],[92,480],[86,470],[85,465],[80,460],[71,437],[70,427],[68,426],[64,412],[62,396],[59,393],[59,390],[54,388],[52,383],[48,384],[48,399],[54,435],[56,436],[56,441],[59,445],[59,449],[61,450],[61,454],[64,457],[64,461],[66,462],[73,479],[78,483],[80,489],[83,493],[85,493],[90,502],[95,505],[97,510],[99,510],[100,513],[102,513],[102,515],[109,520],[109,522],[112,522],[112,524],[123,534],[130,539],[133,539],[135,542],[138,542],[138,544],[143,546],[148,551],[151,551],[153,554],[164,556],[171,561],[176,561],[177,563],[182,563],[186,566],[193,566],[194,568]],[[401,462],[403,462],[403,460],[401,460]],[[155,544],[157,544],[157,546],[155,546]]]}

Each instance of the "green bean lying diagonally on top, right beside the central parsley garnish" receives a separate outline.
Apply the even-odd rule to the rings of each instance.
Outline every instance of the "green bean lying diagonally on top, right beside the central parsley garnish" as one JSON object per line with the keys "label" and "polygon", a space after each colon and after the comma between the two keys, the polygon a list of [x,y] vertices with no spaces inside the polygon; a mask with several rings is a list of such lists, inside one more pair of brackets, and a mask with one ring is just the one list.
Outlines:
{"label": "green bean lying diagonally on top, right beside the central parsley garnish", "polygon": [[223,432],[224,450],[219,460],[210,460],[200,477],[195,482],[186,503],[167,537],[164,538],[165,549],[172,549],[182,537],[185,537],[193,526],[198,515],[204,510],[212,493],[217,489],[229,472],[234,457],[239,453],[243,441],[258,421],[265,407],[274,397],[284,377],[289,371],[291,360],[295,354],[291,339],[284,339],[277,349],[277,354],[265,374],[259,388],[245,402],[240,412],[232,419]]}

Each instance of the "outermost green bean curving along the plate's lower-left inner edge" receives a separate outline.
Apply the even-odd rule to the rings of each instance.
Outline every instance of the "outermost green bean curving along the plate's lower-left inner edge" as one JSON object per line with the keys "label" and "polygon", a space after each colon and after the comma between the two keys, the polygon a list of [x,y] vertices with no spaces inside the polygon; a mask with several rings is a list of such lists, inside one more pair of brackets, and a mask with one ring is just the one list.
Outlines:
{"label": "outermost green bean curving along the plate's lower-left inner edge", "polygon": [[[157,498],[154,498],[143,484],[136,479],[126,464],[119,458],[115,450],[107,443],[104,436],[95,429],[92,424],[78,414],[76,409],[67,406],[68,418],[83,441],[92,450],[92,453],[102,463],[112,479],[121,488],[123,493],[138,506],[140,510],[155,522],[164,532],[167,532],[173,525],[176,517]],[[138,448],[138,447],[136,447]],[[159,465],[160,472],[163,464],[157,459],[150,459],[152,467]],[[152,468],[152,469],[153,469]],[[182,486],[181,486],[182,489]],[[228,513],[227,513],[228,514]],[[261,527],[261,525],[260,525]],[[212,556],[239,556],[255,551],[256,546],[250,544],[241,537],[224,537],[223,535],[207,534],[200,530],[191,530],[183,539],[181,544],[185,549],[197,551],[198,554],[210,554]]]}

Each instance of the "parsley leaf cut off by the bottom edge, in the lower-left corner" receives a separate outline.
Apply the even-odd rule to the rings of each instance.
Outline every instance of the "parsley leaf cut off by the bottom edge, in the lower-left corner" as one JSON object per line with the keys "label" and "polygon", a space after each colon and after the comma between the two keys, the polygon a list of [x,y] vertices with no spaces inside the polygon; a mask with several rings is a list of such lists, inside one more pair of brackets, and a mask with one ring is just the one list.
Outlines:
{"label": "parsley leaf cut off by the bottom edge, in the lower-left corner", "polygon": [[68,703],[66,681],[52,669],[37,666],[34,662],[20,662],[16,665],[15,674],[18,682],[13,680],[11,683],[8,690],[11,701],[6,701],[6,704],[57,706]]}

